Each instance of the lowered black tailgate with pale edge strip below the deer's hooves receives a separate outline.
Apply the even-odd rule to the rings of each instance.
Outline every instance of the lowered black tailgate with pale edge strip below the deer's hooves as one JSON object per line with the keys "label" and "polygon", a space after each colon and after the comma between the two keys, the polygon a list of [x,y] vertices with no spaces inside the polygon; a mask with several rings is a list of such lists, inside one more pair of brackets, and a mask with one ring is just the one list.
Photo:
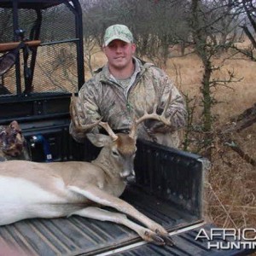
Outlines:
{"label": "lowered black tailgate with pale edge strip below the deer's hooves", "polygon": [[[212,224],[196,224],[189,228],[178,230],[177,232],[171,232],[172,240],[175,245],[172,247],[158,247],[144,241],[137,242],[133,245],[119,248],[118,250],[108,253],[102,253],[98,256],[107,255],[123,255],[123,256],[135,256],[135,255],[177,255],[177,256],[195,256],[195,255],[248,255],[256,252],[256,246],[250,248],[248,246],[241,247],[238,245],[238,241],[216,239],[211,241],[211,244],[215,244],[216,247],[208,248],[207,239],[195,240],[201,229],[205,230],[207,234],[210,234],[211,229],[214,229]],[[219,242],[219,243],[218,243]],[[237,248],[234,246],[236,243]],[[221,245],[217,248],[217,244]],[[231,245],[230,245],[231,244]],[[230,249],[230,247],[232,247]],[[254,254],[253,253],[253,254]],[[255,253],[256,254],[256,253]]]}

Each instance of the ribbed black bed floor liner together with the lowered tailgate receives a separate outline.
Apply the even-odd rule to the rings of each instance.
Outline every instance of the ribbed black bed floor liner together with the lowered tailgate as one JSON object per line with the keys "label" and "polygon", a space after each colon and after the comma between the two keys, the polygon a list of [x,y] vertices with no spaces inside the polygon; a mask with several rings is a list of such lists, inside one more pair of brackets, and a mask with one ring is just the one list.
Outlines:
{"label": "ribbed black bed floor liner together with the lowered tailgate", "polygon": [[[177,210],[159,199],[148,196],[137,187],[129,187],[122,196],[139,211],[162,224],[172,236],[174,246],[155,246],[142,241],[125,226],[89,218],[30,219],[0,227],[0,236],[29,255],[247,255],[249,250],[226,251],[207,248],[207,242],[195,241],[198,231],[209,231],[193,216]],[[150,201],[148,201],[150,200]],[[193,224],[197,227],[193,229]],[[187,227],[187,230],[186,230]],[[190,230],[189,230],[190,229]],[[180,231],[184,230],[184,231]],[[1,254],[1,253],[0,253]]]}

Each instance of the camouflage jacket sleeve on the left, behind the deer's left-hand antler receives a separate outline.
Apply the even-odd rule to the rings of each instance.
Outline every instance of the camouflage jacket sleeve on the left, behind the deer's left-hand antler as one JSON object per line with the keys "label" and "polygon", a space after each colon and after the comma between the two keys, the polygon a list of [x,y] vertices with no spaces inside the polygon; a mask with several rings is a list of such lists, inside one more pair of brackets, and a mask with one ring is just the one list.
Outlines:
{"label": "camouflage jacket sleeve on the left, behind the deer's left-hand antler", "polygon": [[84,137],[86,137],[87,132],[98,132],[98,127],[94,127],[92,130],[84,129],[84,131],[80,131],[74,125],[74,119],[77,119],[80,125],[90,125],[96,122],[96,120],[101,119],[97,100],[100,98],[98,93],[99,91],[92,79],[85,83],[79,90],[77,99],[78,114],[72,116],[69,125],[69,133],[78,143],[84,142]]}

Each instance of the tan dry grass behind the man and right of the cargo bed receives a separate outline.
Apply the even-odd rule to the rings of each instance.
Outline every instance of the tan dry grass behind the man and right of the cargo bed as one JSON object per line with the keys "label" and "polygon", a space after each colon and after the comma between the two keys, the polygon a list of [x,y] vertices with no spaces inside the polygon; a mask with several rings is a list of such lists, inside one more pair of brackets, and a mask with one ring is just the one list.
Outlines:
{"label": "tan dry grass behind the man and right of the cargo bed", "polygon": [[[106,61],[102,53],[95,55],[95,68]],[[223,59],[216,59],[219,65]],[[243,59],[224,61],[223,67],[213,76],[217,79],[227,78],[227,71],[234,71],[238,83],[218,87],[212,92],[218,100],[213,113],[218,117],[214,125],[217,130],[230,123],[230,118],[252,107],[256,102],[256,63]],[[196,96],[200,101],[202,77],[201,61],[196,55],[170,58],[166,73],[177,84],[179,90]],[[86,73],[87,79],[90,74]],[[200,118],[200,108],[196,108],[196,117]],[[256,124],[240,133],[232,134],[240,147],[256,160]],[[216,137],[212,149],[212,168],[208,173],[207,214],[215,224],[221,227],[253,228],[256,226],[256,170],[228,146],[220,143]]]}

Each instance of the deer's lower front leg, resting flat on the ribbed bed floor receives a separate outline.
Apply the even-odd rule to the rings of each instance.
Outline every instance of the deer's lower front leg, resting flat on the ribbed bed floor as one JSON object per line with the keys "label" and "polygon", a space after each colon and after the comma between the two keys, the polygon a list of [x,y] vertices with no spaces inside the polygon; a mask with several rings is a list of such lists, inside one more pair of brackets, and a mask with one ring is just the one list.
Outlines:
{"label": "deer's lower front leg, resting flat on the ribbed bed floor", "polygon": [[166,244],[165,241],[158,234],[144,228],[143,226],[140,226],[132,222],[130,219],[126,218],[125,214],[122,214],[122,213],[109,212],[107,210],[103,210],[98,207],[86,207],[77,212],[73,212],[69,216],[71,215],[79,215],[85,218],[93,218],[97,220],[110,221],[117,224],[123,224],[126,227],[130,228],[131,230],[134,230],[135,232],[137,232],[137,234],[141,236],[145,241],[154,242],[154,244],[156,245]]}

